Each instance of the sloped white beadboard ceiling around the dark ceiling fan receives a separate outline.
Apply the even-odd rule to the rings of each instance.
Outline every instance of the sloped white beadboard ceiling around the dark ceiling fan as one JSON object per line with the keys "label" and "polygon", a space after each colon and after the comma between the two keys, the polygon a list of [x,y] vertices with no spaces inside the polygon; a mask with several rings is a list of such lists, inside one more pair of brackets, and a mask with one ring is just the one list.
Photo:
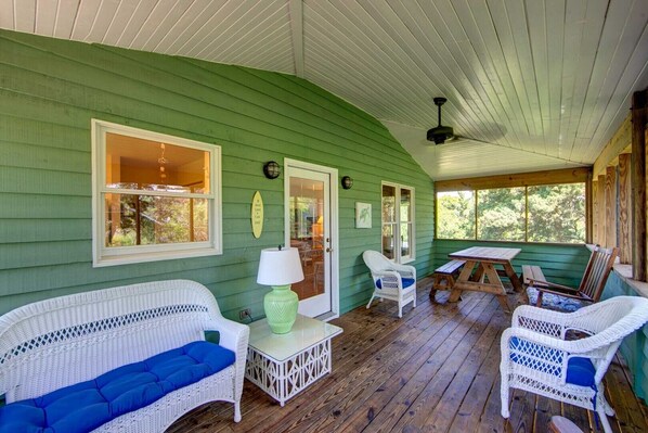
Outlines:
{"label": "sloped white beadboard ceiling around the dark ceiling fan", "polygon": [[[648,0],[0,0],[0,27],[297,75],[435,180],[592,165],[648,87]],[[426,141],[438,95],[479,141]]]}

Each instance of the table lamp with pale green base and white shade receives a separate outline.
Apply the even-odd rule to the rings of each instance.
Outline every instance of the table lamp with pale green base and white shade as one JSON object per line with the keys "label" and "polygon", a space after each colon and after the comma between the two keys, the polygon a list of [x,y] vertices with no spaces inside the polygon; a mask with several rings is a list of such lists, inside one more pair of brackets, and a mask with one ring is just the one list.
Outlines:
{"label": "table lamp with pale green base and white shade", "polygon": [[270,329],[275,334],[290,332],[297,318],[299,298],[290,284],[303,280],[299,251],[297,249],[261,250],[257,282],[271,285],[272,291],[263,298],[263,309]]}

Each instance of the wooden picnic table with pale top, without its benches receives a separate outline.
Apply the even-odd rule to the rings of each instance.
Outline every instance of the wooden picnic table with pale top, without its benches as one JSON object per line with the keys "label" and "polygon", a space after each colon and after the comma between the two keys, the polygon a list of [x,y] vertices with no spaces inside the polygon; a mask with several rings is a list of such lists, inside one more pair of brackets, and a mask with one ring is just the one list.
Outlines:
{"label": "wooden picnic table with pale top, without its benches", "polygon": [[[506,289],[500,276],[510,280],[516,292],[522,292],[520,278],[513,269],[511,260],[520,253],[520,249],[501,249],[494,246],[471,246],[449,254],[454,259],[466,260],[450,294],[450,302],[457,302],[464,290],[492,293],[497,296],[502,308],[510,311],[506,300]],[[501,266],[503,269],[496,269]]]}

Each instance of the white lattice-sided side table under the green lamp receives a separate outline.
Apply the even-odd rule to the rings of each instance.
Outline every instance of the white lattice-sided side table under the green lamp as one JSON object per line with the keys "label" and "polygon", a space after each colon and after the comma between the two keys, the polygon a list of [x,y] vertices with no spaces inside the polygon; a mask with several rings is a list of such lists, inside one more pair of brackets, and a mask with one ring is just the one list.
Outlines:
{"label": "white lattice-sided side table under the green lamp", "polygon": [[265,319],[249,324],[245,377],[282,406],[331,372],[331,339],[342,329],[297,315],[293,330],[273,334]]}

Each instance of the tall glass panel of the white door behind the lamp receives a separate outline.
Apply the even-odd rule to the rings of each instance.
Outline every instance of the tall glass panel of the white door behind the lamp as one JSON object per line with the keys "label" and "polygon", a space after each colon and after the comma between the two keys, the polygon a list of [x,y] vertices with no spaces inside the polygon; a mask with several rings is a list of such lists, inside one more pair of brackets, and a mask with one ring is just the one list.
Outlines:
{"label": "tall glass panel of the white door behind the lamp", "polygon": [[303,281],[293,284],[299,300],[323,294],[324,288],[324,182],[290,177],[290,246],[299,250]]}

